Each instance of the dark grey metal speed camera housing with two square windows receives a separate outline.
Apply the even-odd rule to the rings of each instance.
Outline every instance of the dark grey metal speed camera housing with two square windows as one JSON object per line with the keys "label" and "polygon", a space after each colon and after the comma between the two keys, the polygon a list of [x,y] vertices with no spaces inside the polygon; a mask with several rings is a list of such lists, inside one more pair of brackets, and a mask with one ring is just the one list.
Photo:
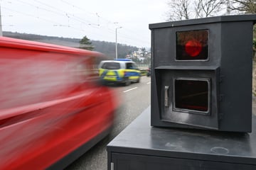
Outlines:
{"label": "dark grey metal speed camera housing with two square windows", "polygon": [[[255,21],[256,15],[241,15],[149,25],[152,126],[251,132]],[[208,56],[177,60],[177,33],[197,30],[208,31]],[[207,98],[204,96],[202,101],[207,107],[202,111],[177,107],[178,95],[183,93],[179,81],[203,82]],[[182,98],[179,100],[182,103]]]}

